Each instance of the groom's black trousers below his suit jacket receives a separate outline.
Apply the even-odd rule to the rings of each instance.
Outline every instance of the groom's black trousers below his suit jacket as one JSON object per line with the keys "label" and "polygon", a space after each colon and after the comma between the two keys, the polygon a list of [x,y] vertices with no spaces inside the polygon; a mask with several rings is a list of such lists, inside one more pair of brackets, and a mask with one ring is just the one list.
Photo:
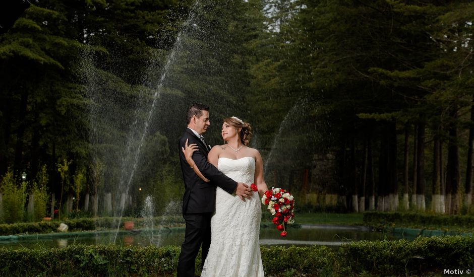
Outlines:
{"label": "groom's black trousers below his suit jacket", "polygon": [[202,246],[201,269],[211,245],[212,213],[184,214],[186,221],[185,241],[181,245],[177,265],[177,277],[194,277],[196,256]]}

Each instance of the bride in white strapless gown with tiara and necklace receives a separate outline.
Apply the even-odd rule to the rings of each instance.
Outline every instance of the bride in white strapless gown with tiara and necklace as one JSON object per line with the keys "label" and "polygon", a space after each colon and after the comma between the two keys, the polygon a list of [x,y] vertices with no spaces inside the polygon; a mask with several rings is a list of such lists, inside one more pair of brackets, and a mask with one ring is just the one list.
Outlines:
{"label": "bride in white strapless gown with tiara and necklace", "polygon": [[[252,136],[249,123],[232,116],[224,119],[222,138],[226,144],[214,146],[207,159],[222,173],[236,182],[255,183],[257,193],[242,201],[217,187],[216,209],[211,219],[211,246],[201,276],[263,276],[260,256],[260,197],[267,190],[260,153],[248,147]],[[192,167],[192,155],[199,151],[196,144],[183,149]],[[199,168],[199,177],[208,182]]]}

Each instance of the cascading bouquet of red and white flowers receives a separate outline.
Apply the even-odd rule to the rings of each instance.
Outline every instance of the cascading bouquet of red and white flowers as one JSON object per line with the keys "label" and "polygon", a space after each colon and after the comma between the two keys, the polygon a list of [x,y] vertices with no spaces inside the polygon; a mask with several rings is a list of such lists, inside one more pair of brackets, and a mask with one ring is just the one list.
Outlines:
{"label": "cascading bouquet of red and white flowers", "polygon": [[286,237],[285,226],[294,223],[293,195],[282,188],[272,187],[271,190],[265,191],[262,196],[262,203],[268,205],[267,209],[274,216],[273,224],[276,225],[276,229],[282,231],[280,236]]}

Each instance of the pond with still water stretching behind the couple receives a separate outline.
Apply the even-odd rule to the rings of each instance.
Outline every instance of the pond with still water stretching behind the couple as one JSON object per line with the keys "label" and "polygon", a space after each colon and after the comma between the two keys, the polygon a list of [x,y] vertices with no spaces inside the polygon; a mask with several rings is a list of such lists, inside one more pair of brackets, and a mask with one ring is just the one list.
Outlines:
{"label": "pond with still water stretching behind the couple", "polygon": [[[273,226],[260,229],[260,245],[326,245],[338,248],[343,243],[359,240],[397,240],[401,235],[373,232],[364,226],[341,225],[301,225],[301,228],[289,228],[288,235],[281,237]],[[73,244],[117,244],[123,246],[180,246],[184,241],[185,229],[172,228],[161,230],[75,232],[61,234],[41,234],[18,236],[0,241],[0,246],[11,248],[64,248]],[[406,238],[406,239],[414,239]],[[115,242],[114,242],[115,241]]]}

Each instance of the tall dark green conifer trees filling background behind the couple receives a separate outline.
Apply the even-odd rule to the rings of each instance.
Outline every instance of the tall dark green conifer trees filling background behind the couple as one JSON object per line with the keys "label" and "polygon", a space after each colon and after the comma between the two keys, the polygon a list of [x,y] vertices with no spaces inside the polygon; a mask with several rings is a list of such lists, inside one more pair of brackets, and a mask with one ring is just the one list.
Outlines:
{"label": "tall dark green conifer trees filling background behind the couple", "polygon": [[[36,2],[0,36],[0,174],[34,176],[46,164],[48,191],[62,195],[56,161],[73,161],[70,176],[93,168],[85,189],[74,189],[76,210],[84,193],[124,183],[118,190],[137,202],[138,187],[181,198],[175,141],[196,100],[211,106],[212,127],[228,115],[252,124],[270,186],[362,194],[372,142],[375,194],[387,183],[396,193],[405,168],[391,148],[384,173],[387,124],[392,145],[402,129],[411,142],[412,125],[423,123],[427,144],[439,137],[466,155],[473,11],[463,0]],[[221,143],[217,130],[208,143]],[[301,173],[319,170],[314,155],[328,152],[337,158],[332,183],[304,187]],[[458,160],[461,176],[472,166]],[[433,171],[428,158],[424,169]]]}

